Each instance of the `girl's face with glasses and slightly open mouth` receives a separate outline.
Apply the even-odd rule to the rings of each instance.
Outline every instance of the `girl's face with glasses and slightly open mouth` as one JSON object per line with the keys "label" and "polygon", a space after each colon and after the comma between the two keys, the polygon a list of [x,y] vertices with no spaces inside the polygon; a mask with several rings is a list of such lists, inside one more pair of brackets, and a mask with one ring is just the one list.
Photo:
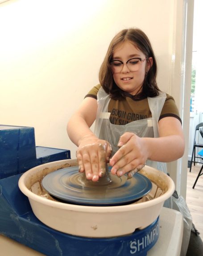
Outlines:
{"label": "girl's face with glasses and slightly open mouth", "polygon": [[[142,61],[137,59],[128,61],[132,58],[141,58]],[[122,61],[123,63],[128,61],[128,64],[122,65],[121,62],[116,62],[115,60]],[[113,79],[116,85],[121,90],[136,95],[138,92],[141,92],[145,74],[152,65],[152,57],[146,60],[146,56],[143,52],[136,48],[131,42],[125,41],[116,47],[112,56],[111,65]]]}

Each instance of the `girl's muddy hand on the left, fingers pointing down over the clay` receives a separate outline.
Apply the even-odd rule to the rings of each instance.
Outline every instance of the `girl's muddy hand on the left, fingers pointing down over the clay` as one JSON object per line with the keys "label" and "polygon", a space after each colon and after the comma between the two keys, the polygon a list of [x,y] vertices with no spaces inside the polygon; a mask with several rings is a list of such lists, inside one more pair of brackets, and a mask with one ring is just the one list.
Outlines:
{"label": "girl's muddy hand on the left, fingers pointing down over the clay", "polygon": [[79,172],[85,171],[87,179],[98,181],[105,174],[111,154],[111,145],[106,140],[98,139],[95,135],[83,137],[76,152]]}

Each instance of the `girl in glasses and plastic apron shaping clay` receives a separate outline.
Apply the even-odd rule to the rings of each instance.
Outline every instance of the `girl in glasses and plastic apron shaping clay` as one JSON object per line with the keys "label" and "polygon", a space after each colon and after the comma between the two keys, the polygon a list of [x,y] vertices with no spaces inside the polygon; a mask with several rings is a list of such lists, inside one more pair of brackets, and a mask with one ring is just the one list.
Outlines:
{"label": "girl in glasses and plastic apron shaping clay", "polygon": [[[97,181],[106,163],[122,176],[145,163],[166,172],[160,162],[182,157],[184,137],[174,99],[157,87],[157,63],[145,33],[120,31],[99,71],[100,84],[85,96],[67,132],[78,146],[79,171]],[[90,126],[95,122],[95,132]],[[111,159],[110,159],[111,157]]]}

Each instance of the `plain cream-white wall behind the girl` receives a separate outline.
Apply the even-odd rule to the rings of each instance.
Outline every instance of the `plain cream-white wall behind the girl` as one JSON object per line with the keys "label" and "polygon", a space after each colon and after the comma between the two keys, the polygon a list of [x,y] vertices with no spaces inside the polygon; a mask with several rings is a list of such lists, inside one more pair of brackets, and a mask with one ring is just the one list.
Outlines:
{"label": "plain cream-white wall behind the girl", "polygon": [[131,26],[149,36],[159,65],[158,86],[175,92],[179,107],[182,92],[173,91],[180,85],[172,84],[172,57],[176,6],[182,3],[10,0],[0,4],[0,123],[33,126],[37,145],[70,149],[75,158],[66,123],[98,83],[99,66],[112,37]]}

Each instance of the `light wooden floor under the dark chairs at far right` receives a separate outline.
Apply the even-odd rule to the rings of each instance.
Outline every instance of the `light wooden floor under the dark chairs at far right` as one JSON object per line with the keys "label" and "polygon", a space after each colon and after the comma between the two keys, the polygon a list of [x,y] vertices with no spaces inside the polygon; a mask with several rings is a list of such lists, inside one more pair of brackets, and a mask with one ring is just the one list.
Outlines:
{"label": "light wooden floor under the dark chairs at far right", "polygon": [[187,169],[186,203],[190,209],[192,221],[203,240],[203,175],[199,177],[195,188],[192,188],[201,166],[200,164],[192,165],[191,173],[189,168]]}

